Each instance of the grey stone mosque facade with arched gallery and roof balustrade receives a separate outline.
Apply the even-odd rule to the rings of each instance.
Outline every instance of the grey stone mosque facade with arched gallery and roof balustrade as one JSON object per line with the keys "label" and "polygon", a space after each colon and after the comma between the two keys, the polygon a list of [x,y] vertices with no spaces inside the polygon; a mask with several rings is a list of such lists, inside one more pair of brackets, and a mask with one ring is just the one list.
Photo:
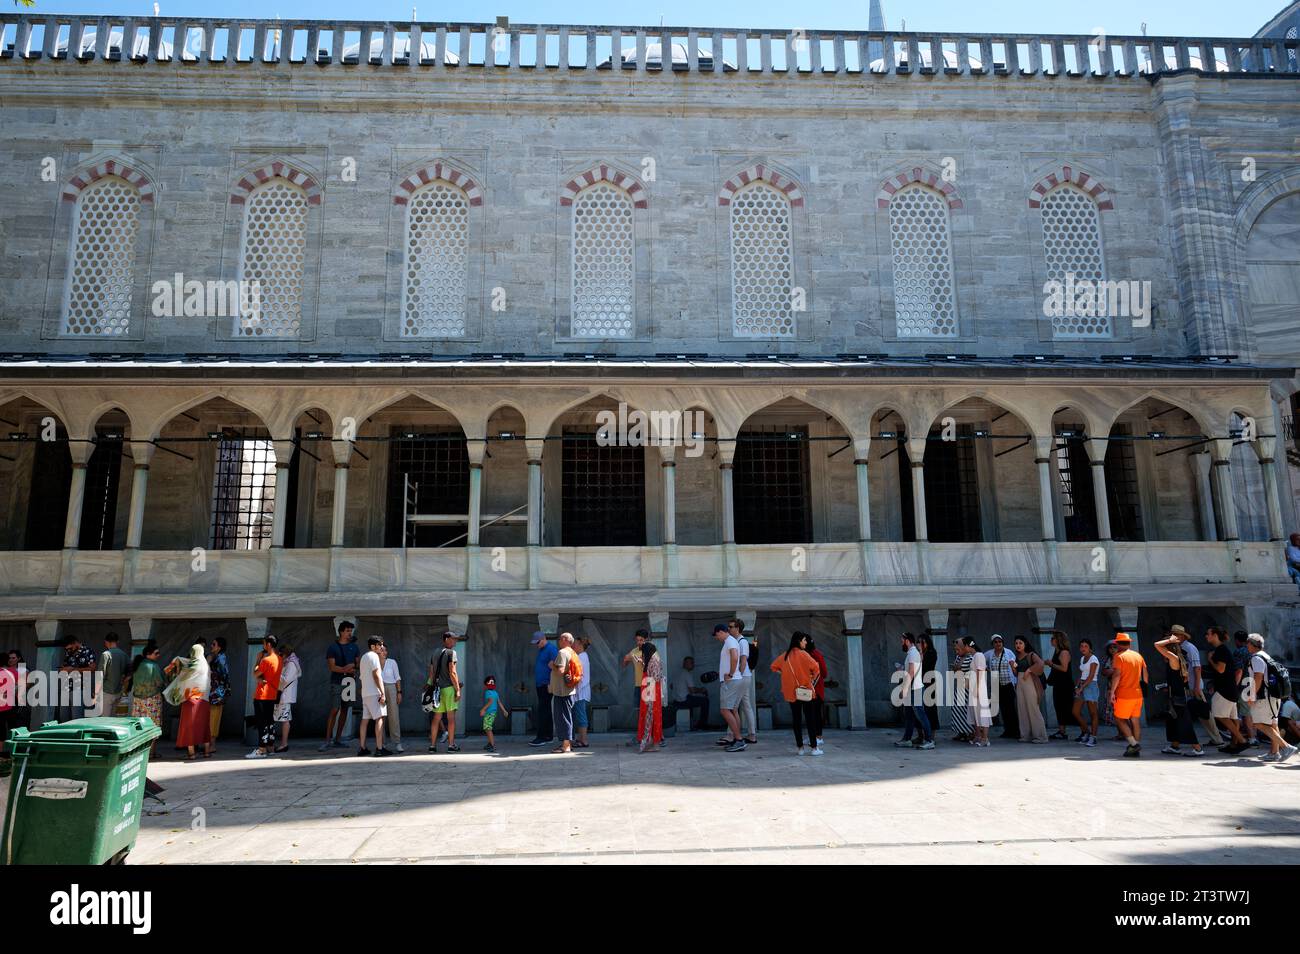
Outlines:
{"label": "grey stone mosque facade with arched gallery and roof balustrade", "polygon": [[[889,712],[900,629],[1136,625],[1149,646],[1171,621],[1217,619],[1296,651],[1280,541],[1300,525],[1300,73],[1284,35],[257,22],[231,57],[217,21],[0,23],[18,52],[0,61],[0,606],[43,664],[58,633],[94,643],[109,625],[169,652],[269,628],[315,659],[332,619],[358,615],[415,680],[426,626],[450,619],[474,704],[486,672],[528,682],[538,625],[585,628],[620,707],[618,650],[647,613],[668,613],[672,669],[710,659],[710,623],[745,608],[764,650],[816,636],[861,725]],[[654,58],[666,47],[680,68]],[[432,186],[443,204],[419,200]],[[129,240],[105,208],[135,222]],[[1044,286],[1071,263],[1147,283],[1150,311],[1102,333],[1054,324]],[[290,317],[164,307],[186,282],[250,276]],[[69,304],[105,289],[120,320]],[[918,321],[918,300],[942,300],[942,321]],[[705,454],[645,450],[638,546],[567,545],[566,426],[620,403],[703,411]],[[949,420],[974,442],[963,543],[927,534],[922,461]],[[36,504],[47,424],[72,459],[61,508]],[[737,442],[759,425],[805,435],[793,555],[737,542]],[[105,429],[116,520],[86,550]],[[228,429],[270,442],[265,548],[213,546]],[[395,545],[404,430],[465,439],[456,546]],[[1070,434],[1100,500],[1108,445],[1131,446],[1136,539],[1104,506],[1095,538],[1071,529],[1092,502],[1067,499]],[[480,530],[480,515],[521,516]],[[321,703],[306,691],[308,721]]]}

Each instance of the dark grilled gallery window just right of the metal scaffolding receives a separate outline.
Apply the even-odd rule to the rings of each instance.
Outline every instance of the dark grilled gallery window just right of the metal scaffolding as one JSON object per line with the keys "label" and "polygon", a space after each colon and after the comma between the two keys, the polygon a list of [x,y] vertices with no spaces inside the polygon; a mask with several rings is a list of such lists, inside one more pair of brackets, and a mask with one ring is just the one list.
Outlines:
{"label": "dark grilled gallery window just right of the metal scaffolding", "polygon": [[567,426],[563,437],[564,546],[645,546],[645,447],[601,446],[588,428]]}

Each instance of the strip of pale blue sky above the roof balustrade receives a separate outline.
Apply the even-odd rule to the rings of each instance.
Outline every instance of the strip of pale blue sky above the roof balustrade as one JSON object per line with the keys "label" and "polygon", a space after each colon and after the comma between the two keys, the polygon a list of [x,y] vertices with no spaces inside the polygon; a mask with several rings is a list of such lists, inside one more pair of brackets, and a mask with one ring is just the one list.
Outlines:
{"label": "strip of pale blue sky above the roof balustrade", "polygon": [[[159,0],[166,16],[410,19],[412,3],[420,19],[491,21],[498,14],[526,23],[610,23],[671,26],[767,26],[862,29],[867,0],[805,0],[794,22],[788,3],[776,0],[654,0],[614,5],[607,0]],[[970,32],[1091,34],[1113,36],[1147,31],[1165,36],[1249,36],[1284,6],[1284,0],[1093,0],[1089,4],[1043,4],[1031,0],[884,0],[885,23],[897,30],[965,30]],[[150,14],[152,0],[38,0],[39,10],[57,13]],[[620,13],[611,14],[611,10]]]}

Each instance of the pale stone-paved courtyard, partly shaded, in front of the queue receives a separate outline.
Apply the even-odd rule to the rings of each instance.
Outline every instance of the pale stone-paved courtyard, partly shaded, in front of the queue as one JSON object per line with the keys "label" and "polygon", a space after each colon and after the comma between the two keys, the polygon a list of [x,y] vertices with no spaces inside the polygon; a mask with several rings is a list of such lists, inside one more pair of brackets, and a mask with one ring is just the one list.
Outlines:
{"label": "pale stone-paved courtyard, partly shaded, in front of the queue", "polygon": [[780,730],[738,754],[714,733],[646,755],[621,734],[573,755],[511,738],[489,755],[477,736],[387,759],[318,740],[261,762],[160,747],[166,805],[146,802],[129,860],[1300,863],[1300,758],[1174,758],[1149,733],[1140,760],[1110,742],[898,750],[889,729],[831,732],[822,759]]}

